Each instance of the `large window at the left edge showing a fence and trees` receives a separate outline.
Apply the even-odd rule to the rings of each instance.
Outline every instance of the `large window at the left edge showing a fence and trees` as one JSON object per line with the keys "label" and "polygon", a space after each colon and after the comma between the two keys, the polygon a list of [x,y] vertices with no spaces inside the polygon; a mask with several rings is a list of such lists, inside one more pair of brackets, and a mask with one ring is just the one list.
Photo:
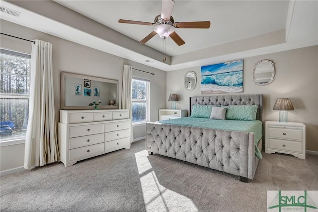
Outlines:
{"label": "large window at the left edge showing a fence and trees", "polygon": [[0,141],[25,136],[31,55],[0,49]]}

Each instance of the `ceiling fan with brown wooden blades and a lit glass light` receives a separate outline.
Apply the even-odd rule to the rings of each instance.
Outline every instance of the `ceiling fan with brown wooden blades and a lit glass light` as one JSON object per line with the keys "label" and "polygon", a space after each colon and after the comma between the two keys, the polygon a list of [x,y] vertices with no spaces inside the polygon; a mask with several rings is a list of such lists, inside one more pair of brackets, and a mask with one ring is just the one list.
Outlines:
{"label": "ceiling fan with brown wooden blades and a lit glass light", "polygon": [[210,27],[210,21],[194,21],[194,22],[174,22],[173,17],[171,16],[172,9],[174,5],[174,0],[162,0],[161,3],[161,14],[157,15],[154,23],[135,21],[135,20],[123,20],[119,19],[119,23],[131,23],[131,24],[140,24],[155,26],[154,31],[142,39],[139,43],[145,44],[156,34],[162,39],[171,37],[171,39],[178,44],[179,46],[185,44],[182,38],[174,31],[173,28],[197,28],[197,29],[208,29]]}

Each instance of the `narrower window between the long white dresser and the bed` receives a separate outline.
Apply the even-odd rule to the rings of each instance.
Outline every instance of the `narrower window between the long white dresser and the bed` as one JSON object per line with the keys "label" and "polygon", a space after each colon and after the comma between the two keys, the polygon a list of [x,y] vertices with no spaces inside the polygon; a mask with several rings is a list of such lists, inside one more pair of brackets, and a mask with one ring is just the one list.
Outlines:
{"label": "narrower window between the long white dresser and the bed", "polygon": [[149,119],[149,83],[149,80],[133,77],[133,124],[146,122]]}

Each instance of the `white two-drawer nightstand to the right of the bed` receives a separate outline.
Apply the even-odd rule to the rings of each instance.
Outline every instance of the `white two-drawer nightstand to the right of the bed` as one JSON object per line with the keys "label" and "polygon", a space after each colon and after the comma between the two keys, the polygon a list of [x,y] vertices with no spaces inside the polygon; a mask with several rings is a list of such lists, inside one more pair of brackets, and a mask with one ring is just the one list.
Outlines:
{"label": "white two-drawer nightstand to the right of the bed", "polygon": [[306,158],[306,125],[299,122],[265,122],[265,152]]}

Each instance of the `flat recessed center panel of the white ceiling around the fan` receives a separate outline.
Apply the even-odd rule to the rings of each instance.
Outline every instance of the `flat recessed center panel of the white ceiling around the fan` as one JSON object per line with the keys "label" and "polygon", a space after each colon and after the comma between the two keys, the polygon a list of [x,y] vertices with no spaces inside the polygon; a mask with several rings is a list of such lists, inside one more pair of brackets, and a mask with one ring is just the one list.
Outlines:
{"label": "flat recessed center panel of the white ceiling around the fan", "polygon": [[[160,0],[77,1],[56,2],[96,20],[136,41],[141,41],[154,26],[118,23],[119,19],[154,22],[161,12]],[[182,46],[172,39],[166,43],[166,53],[175,56],[202,48],[229,43],[255,35],[284,29],[288,1],[197,1],[175,0],[174,22],[210,21],[209,29],[175,29],[186,42]],[[260,25],[260,23],[262,23]],[[159,35],[146,45],[163,52]]]}

